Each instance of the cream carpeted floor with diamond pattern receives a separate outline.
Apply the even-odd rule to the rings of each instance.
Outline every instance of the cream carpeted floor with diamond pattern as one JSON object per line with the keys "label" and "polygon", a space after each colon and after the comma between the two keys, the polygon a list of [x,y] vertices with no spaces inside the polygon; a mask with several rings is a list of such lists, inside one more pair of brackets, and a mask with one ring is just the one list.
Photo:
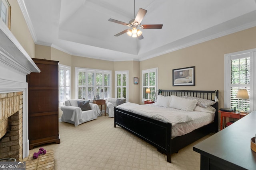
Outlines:
{"label": "cream carpeted floor with diamond pattern", "polygon": [[[74,127],[60,122],[60,144],[40,146],[54,149],[56,170],[199,170],[200,154],[192,147],[210,135],[172,154],[166,155],[121,127],[114,128],[114,118],[98,119]],[[30,150],[38,152],[39,147]]]}

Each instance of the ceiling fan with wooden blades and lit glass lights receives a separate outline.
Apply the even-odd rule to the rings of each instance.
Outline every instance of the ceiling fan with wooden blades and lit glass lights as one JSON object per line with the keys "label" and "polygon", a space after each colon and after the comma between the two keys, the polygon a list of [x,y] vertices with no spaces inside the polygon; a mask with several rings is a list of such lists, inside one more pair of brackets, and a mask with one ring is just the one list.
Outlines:
{"label": "ceiling fan with wooden blades and lit glass lights", "polygon": [[135,0],[134,0],[134,19],[130,20],[129,23],[114,20],[112,18],[108,19],[108,21],[119,23],[129,27],[128,29],[125,29],[124,31],[117,33],[114,36],[118,37],[119,35],[127,33],[130,37],[138,37],[138,39],[141,40],[144,37],[142,36],[142,31],[140,31],[140,29],[161,29],[163,24],[150,24],[150,25],[141,24],[141,21],[143,20],[146,13],[147,13],[147,10],[140,8],[135,17]]}

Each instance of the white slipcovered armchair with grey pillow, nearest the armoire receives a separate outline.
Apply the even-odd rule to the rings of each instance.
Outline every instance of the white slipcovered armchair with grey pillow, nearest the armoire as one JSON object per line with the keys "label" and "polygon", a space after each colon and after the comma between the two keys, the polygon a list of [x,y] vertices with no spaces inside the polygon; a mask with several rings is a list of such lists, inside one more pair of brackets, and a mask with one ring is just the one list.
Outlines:
{"label": "white slipcovered armchair with grey pillow, nearest the armoire", "polygon": [[61,106],[60,109],[63,111],[63,114],[60,118],[61,121],[72,123],[77,127],[78,125],[94,120],[98,118],[98,115],[101,113],[100,108],[97,104],[90,103],[90,110],[82,111],[78,107],[77,101],[85,101],[81,99],[76,100],[67,100],[65,101],[65,106]]}

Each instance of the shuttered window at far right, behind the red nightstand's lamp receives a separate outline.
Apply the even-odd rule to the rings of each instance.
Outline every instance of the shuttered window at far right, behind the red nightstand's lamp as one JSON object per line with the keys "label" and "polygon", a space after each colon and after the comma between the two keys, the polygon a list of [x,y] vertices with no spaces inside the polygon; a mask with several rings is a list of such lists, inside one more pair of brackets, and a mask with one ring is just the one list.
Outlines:
{"label": "shuttered window at far right, behind the red nightstand's lamp", "polygon": [[[254,65],[256,64],[256,49],[241,51],[225,55],[225,91],[224,106],[236,107],[237,110],[253,111],[255,78]],[[236,94],[239,89],[246,89],[250,99],[238,99]]]}

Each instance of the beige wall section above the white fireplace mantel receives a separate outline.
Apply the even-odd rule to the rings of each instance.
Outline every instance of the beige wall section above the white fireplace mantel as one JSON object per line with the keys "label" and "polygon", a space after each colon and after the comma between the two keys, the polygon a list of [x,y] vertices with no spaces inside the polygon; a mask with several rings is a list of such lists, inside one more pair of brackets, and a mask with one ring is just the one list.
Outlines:
{"label": "beige wall section above the white fireplace mantel", "polygon": [[11,6],[11,29],[10,31],[26,50],[31,58],[35,57],[35,44],[20,10],[17,0],[8,0]]}

